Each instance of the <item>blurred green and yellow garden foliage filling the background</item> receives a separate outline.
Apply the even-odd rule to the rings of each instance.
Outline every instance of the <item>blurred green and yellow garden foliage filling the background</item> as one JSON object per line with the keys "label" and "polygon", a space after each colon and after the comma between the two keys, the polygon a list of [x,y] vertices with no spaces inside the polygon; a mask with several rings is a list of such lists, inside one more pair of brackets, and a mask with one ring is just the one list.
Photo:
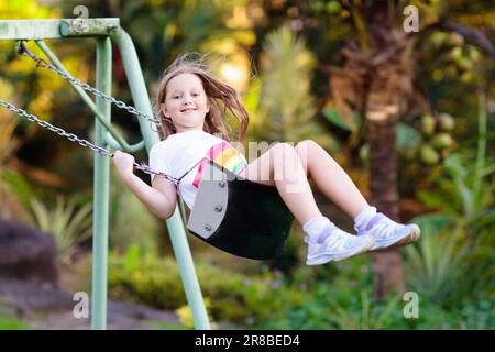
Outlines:
{"label": "blurred green and yellow garden foliage filling the background", "polygon": [[[350,41],[373,47],[366,43],[366,29],[374,28],[366,13],[377,1],[82,2],[91,18],[120,18],[136,46],[152,97],[162,72],[179,53],[210,53],[215,73],[240,91],[251,114],[246,141],[318,141],[369,194],[366,122],[351,99],[366,80],[360,78],[356,86],[340,81],[336,96],[329,67],[344,67]],[[399,10],[404,4],[389,3]],[[189,239],[212,320],[258,329],[495,327],[495,54],[490,52],[495,4],[410,3],[419,9],[421,29],[402,69],[414,77],[415,96],[407,98],[396,147],[399,215],[422,229],[421,240],[402,252],[406,287],[420,297],[419,318],[404,317],[405,301],[398,294],[384,300],[373,297],[367,255],[306,266],[301,230],[295,224],[285,254],[266,263],[233,258]],[[81,1],[7,0],[0,2],[0,19],[74,18],[78,4]],[[398,11],[394,19],[400,25],[404,15]],[[459,31],[452,31],[452,23]],[[91,41],[47,44],[69,73],[94,85]],[[92,138],[94,117],[65,81],[19,57],[12,42],[0,42],[0,62],[1,99]],[[350,77],[358,72],[351,69]],[[117,51],[112,94],[132,103]],[[339,109],[339,99],[349,105],[349,116]],[[140,140],[133,117],[113,109],[112,121],[129,142]],[[64,270],[74,277],[64,288],[89,292],[92,154],[4,109],[0,130],[0,217],[53,233]],[[147,161],[145,153],[135,156]],[[351,230],[340,209],[317,190],[316,197],[324,215]],[[190,328],[165,224],[123,187],[113,169],[110,220],[110,296],[177,309],[183,328]],[[0,327],[29,328],[3,316]]]}

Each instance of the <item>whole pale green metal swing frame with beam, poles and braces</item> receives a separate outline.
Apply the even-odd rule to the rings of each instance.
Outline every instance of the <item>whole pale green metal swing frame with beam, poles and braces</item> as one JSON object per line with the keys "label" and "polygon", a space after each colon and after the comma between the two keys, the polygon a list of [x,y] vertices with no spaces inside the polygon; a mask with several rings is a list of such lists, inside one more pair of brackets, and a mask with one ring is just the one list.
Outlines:
{"label": "whole pale green metal swing frame with beam, poles and braces", "polygon": [[[111,94],[112,42],[116,44],[121,53],[135,108],[147,116],[153,116],[138,53],[132,38],[120,26],[119,19],[0,20],[0,41],[34,41],[53,65],[63,72],[67,70],[50,51],[44,40],[78,37],[86,37],[96,42],[96,88],[106,95]],[[160,142],[158,132],[152,130],[147,121],[139,119],[143,141],[134,145],[128,144],[123,136],[111,127],[110,101],[101,96],[97,96],[94,101],[81,87],[72,81],[69,84],[95,114],[95,145],[136,152],[143,147],[150,151],[155,143]],[[91,329],[103,330],[107,328],[108,310],[110,158],[100,153],[95,153],[94,157]],[[177,206],[174,215],[166,221],[166,227],[195,328],[210,330],[205,300],[178,208]]]}

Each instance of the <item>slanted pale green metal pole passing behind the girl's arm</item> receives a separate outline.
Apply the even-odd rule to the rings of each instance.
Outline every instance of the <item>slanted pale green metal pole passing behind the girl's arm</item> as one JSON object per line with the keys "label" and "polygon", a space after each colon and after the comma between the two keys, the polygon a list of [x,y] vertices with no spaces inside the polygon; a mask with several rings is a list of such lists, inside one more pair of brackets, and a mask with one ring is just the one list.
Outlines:
{"label": "slanted pale green metal pole passing behind the girl's arm", "polygon": [[[110,31],[110,36],[119,45],[134,106],[138,110],[141,110],[148,116],[153,116],[143,73],[131,37],[121,28]],[[140,119],[139,122],[146,148],[150,151],[153,144],[160,141],[160,135],[150,128],[148,122],[143,121],[143,119]],[[166,224],[174,248],[174,254],[179,266],[187,301],[193,312],[195,328],[198,330],[210,330],[211,327],[208,320],[208,314],[202,299],[201,288],[196,275],[193,255],[190,254],[189,243],[187,242],[186,231],[184,229],[178,206],[176,206],[174,216],[167,220]]]}

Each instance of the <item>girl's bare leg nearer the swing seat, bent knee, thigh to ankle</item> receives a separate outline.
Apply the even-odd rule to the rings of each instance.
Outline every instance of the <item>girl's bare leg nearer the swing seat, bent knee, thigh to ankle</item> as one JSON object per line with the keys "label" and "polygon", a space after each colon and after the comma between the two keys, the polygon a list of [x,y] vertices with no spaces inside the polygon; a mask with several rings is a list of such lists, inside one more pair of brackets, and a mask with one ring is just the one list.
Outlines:
{"label": "girl's bare leg nearer the swing seat, bent knee, thigh to ankle", "polygon": [[276,186],[282,199],[301,226],[322,216],[304,166],[290,144],[275,144],[251,162],[240,175],[252,182]]}

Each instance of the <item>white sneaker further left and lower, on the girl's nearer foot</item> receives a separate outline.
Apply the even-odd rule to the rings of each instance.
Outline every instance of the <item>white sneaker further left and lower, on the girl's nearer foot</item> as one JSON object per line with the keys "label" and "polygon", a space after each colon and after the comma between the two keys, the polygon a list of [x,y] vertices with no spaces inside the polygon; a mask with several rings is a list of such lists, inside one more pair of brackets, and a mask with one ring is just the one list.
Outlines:
{"label": "white sneaker further left and lower, on the girl's nearer foot", "polygon": [[308,256],[306,264],[318,265],[328,262],[343,261],[348,257],[369,251],[373,244],[372,235],[352,235],[331,226],[320,234],[320,241],[311,241],[309,237],[305,238],[308,243]]}

